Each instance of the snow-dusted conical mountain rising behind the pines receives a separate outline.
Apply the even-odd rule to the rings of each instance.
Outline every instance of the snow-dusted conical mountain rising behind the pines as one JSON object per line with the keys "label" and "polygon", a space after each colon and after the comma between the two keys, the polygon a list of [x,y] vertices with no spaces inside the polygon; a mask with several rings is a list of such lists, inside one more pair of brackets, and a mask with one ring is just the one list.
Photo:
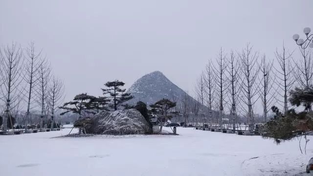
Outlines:
{"label": "snow-dusted conical mountain rising behind the pines", "polygon": [[142,76],[134,82],[128,92],[134,96],[132,100],[127,102],[128,104],[134,105],[136,102],[142,101],[148,106],[162,98],[174,100],[179,104],[179,99],[184,95],[184,91],[167,79],[160,71],[154,71]]}

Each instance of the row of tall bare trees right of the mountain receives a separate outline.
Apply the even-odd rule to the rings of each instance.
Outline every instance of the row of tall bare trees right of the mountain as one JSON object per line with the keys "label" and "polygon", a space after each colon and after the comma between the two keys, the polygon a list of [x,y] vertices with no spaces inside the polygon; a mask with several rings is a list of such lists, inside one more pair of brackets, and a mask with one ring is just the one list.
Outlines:
{"label": "row of tall bare trees right of the mountain", "polygon": [[[250,44],[241,51],[226,53],[222,48],[215,60],[209,60],[196,84],[196,101],[187,93],[181,98],[185,123],[190,114],[198,113],[210,126],[236,130],[238,117],[246,118],[248,130],[255,124],[255,108],[262,105],[262,121],[267,121],[270,108],[279,104],[283,111],[289,107],[289,91],[295,86],[312,84],[313,61],[309,50],[300,49],[300,57],[283,45],[276,49],[275,58],[254,51]],[[196,105],[196,106],[195,106]],[[207,109],[207,110],[204,110]],[[258,110],[260,110],[258,108]],[[205,118],[206,116],[206,118]],[[203,120],[200,120],[203,122]]]}

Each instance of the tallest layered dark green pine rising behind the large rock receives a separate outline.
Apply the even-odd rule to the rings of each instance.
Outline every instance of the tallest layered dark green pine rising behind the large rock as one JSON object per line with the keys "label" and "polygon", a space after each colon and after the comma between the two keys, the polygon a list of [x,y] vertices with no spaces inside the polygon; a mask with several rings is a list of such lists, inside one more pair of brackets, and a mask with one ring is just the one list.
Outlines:
{"label": "tallest layered dark green pine rising behind the large rock", "polygon": [[130,93],[125,93],[126,89],[122,87],[125,83],[121,81],[112,81],[107,82],[105,86],[107,88],[102,88],[103,95],[110,95],[110,107],[114,110],[117,110],[124,102],[134,98]]}

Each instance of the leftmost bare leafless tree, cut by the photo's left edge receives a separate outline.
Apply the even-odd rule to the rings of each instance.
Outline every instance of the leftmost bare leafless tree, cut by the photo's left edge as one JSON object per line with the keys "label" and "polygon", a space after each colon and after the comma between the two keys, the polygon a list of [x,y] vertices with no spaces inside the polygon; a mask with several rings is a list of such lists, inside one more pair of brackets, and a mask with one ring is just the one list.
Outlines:
{"label": "leftmost bare leafless tree, cut by the photo's left edge", "polygon": [[1,100],[5,102],[3,132],[7,132],[7,119],[11,118],[11,110],[21,99],[22,55],[22,48],[16,44],[0,48]]}

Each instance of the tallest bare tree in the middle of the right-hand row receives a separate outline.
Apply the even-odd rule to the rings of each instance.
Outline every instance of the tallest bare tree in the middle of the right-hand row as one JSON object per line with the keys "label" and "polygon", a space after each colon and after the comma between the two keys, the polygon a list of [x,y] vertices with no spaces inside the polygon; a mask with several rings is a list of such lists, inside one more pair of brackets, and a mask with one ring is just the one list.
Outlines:
{"label": "tallest bare tree in the middle of the right-hand row", "polygon": [[[241,60],[241,71],[243,76],[240,77],[243,83],[242,91],[243,98],[242,101],[245,102],[247,106],[247,120],[248,120],[248,130],[253,131],[254,129],[254,116],[252,106],[259,99],[258,95],[258,85],[256,83],[258,73],[260,71],[260,67],[257,63],[259,58],[258,52],[252,52],[252,46],[250,44],[246,44],[246,47],[242,50],[242,53],[239,54]],[[241,97],[241,96],[240,96]]]}

